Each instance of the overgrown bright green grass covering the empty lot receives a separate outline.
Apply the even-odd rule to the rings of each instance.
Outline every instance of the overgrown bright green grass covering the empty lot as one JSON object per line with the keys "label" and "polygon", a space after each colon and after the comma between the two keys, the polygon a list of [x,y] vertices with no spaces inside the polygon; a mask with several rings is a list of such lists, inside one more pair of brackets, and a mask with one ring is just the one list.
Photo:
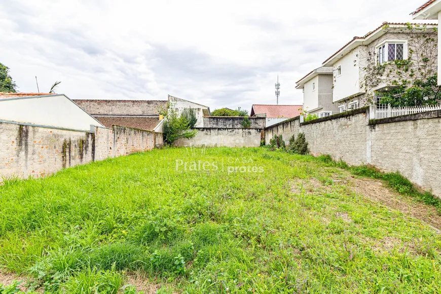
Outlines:
{"label": "overgrown bright green grass covering the empty lot", "polygon": [[6,181],[0,266],[53,293],[135,293],[135,271],[161,293],[441,291],[441,238],[335,180],[346,176],[324,158],[218,148]]}

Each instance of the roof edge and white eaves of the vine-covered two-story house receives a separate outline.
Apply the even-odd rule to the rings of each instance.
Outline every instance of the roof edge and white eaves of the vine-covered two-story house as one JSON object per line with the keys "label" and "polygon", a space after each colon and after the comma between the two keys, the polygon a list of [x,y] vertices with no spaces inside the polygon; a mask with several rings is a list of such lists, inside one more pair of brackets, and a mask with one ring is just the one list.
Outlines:
{"label": "roof edge and white eaves of the vine-covered two-story house", "polygon": [[[335,61],[339,60],[341,57],[346,55],[351,50],[355,49],[360,45],[368,45],[372,41],[380,38],[387,30],[392,30],[395,28],[408,27],[409,25],[423,26],[426,25],[428,28],[437,28],[436,23],[405,23],[405,22],[383,22],[379,27],[366,33],[364,36],[355,36],[351,41],[346,43],[342,48],[340,48],[336,53],[331,55],[328,59],[323,61],[323,66],[331,66]],[[340,53],[340,54],[339,54]]]}

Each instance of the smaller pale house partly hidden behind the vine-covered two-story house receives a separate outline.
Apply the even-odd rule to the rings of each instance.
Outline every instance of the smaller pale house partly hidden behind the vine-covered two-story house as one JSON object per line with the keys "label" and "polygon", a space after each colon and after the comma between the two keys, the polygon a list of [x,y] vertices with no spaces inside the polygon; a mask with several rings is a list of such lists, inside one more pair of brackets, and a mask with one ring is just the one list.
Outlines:
{"label": "smaller pale house partly hidden behind the vine-covered two-story house", "polygon": [[303,90],[303,109],[306,114],[319,118],[338,113],[333,102],[333,67],[322,66],[296,82],[296,89]]}

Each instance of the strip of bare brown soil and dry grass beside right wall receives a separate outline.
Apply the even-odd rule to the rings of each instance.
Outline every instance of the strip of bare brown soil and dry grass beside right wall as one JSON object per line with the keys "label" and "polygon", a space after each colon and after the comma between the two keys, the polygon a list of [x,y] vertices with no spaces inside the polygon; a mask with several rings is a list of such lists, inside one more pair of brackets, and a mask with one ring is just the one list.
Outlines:
{"label": "strip of bare brown soil and dry grass beside right wall", "polygon": [[375,179],[354,178],[353,190],[370,200],[379,202],[387,207],[397,209],[430,224],[438,233],[441,229],[441,216],[436,208],[411,199],[403,199],[401,195],[384,186],[383,182]]}

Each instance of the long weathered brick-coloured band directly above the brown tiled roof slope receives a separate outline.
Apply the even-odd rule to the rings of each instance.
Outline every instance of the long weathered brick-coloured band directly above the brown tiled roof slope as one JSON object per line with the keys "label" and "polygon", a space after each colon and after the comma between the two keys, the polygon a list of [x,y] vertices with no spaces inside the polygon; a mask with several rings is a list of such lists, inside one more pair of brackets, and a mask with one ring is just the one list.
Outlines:
{"label": "long weathered brick-coloured band directly above the brown tiled roof slope", "polygon": [[73,100],[86,112],[107,116],[159,116],[167,100]]}

